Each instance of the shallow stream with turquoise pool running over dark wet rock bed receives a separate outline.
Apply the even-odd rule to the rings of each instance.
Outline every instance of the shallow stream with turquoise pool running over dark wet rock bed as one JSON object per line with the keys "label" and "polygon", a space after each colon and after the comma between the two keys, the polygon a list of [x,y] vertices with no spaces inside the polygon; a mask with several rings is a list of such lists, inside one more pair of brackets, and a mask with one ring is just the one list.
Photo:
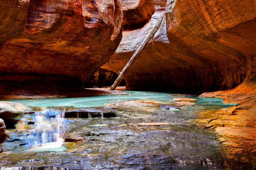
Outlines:
{"label": "shallow stream with turquoise pool running over dark wet rock bed", "polygon": [[[68,127],[68,131],[63,137],[65,142],[52,140],[49,135],[49,141],[55,143],[44,145],[39,136],[33,140],[40,142],[31,146],[27,143],[38,128],[36,116],[23,115],[16,129],[7,129],[9,139],[0,144],[4,149],[0,154],[1,170],[223,168],[223,157],[214,134],[194,125],[193,120],[200,117],[201,111],[217,110],[231,104],[223,104],[218,98],[184,94],[128,93],[11,100],[32,107],[34,111],[42,111],[40,114],[46,109],[64,113],[61,121],[65,125],[62,126]],[[55,116],[53,114],[45,121],[51,125],[48,126],[49,133],[59,127]]]}

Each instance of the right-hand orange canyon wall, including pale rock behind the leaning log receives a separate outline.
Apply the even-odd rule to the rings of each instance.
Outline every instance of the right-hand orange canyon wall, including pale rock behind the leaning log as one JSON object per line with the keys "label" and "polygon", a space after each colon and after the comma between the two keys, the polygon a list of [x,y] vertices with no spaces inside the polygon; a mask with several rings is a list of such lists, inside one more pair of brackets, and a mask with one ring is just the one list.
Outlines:
{"label": "right-hand orange canyon wall, including pale rock behind the leaning log", "polygon": [[233,88],[255,75],[255,1],[153,3],[151,20],[124,30],[114,55],[102,66],[121,71],[166,10],[160,29],[124,77],[127,90],[200,94]]}

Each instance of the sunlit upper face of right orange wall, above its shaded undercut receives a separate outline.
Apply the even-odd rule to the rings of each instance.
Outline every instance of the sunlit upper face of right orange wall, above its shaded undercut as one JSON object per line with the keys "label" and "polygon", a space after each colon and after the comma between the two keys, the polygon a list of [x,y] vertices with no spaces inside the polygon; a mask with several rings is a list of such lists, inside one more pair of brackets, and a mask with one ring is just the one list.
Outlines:
{"label": "sunlit upper face of right orange wall, above its shaded undercut", "polygon": [[256,4],[251,0],[167,0],[166,8],[169,39],[172,39],[171,33],[179,38],[188,36],[188,33],[212,36],[256,17]]}

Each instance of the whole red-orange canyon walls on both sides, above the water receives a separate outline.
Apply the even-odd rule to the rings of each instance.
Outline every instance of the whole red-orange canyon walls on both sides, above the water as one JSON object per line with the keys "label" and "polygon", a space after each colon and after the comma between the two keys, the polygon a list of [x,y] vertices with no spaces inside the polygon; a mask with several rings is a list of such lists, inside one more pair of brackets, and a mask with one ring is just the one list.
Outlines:
{"label": "whole red-orange canyon walls on both sides, above the water", "polygon": [[116,75],[99,81],[99,67],[119,74],[163,13],[127,90],[200,94],[255,80],[255,0],[3,0],[0,10],[1,95],[109,84]]}

